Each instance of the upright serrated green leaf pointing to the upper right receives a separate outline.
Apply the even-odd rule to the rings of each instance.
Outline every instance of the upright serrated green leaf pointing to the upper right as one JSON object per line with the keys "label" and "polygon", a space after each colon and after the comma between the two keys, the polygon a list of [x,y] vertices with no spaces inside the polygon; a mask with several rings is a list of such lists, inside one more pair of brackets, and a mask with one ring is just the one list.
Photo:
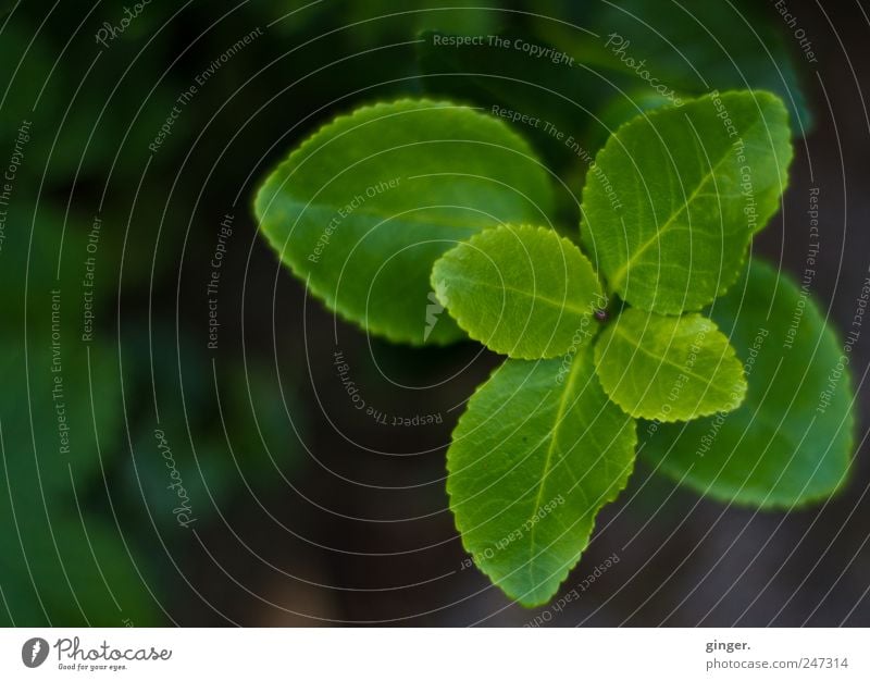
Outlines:
{"label": "upright serrated green leaf pointing to the upper right", "polygon": [[633,306],[698,310],[739,275],[753,234],[779,208],[791,159],[785,108],[768,92],[638,116],[587,175],[583,245]]}

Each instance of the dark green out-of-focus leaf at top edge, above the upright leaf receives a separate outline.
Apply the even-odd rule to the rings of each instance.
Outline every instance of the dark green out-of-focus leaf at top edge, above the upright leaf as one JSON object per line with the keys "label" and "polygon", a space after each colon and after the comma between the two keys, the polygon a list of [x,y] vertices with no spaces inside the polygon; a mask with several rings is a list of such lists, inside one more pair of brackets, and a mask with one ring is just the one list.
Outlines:
{"label": "dark green out-of-focus leaf at top edge, above the upright leaf", "polygon": [[[679,92],[771,90],[788,106],[797,135],[803,136],[812,126],[782,23],[757,2],[577,2],[571,4],[567,15],[564,3],[545,0],[542,5],[545,16],[548,5],[556,5],[552,9],[561,10],[563,21],[538,20],[538,35],[575,54],[579,61],[600,69],[623,91],[626,82],[637,79],[637,66],[627,61],[633,58],[645,62],[641,71],[647,70]],[[574,26],[598,38],[577,41]]]}

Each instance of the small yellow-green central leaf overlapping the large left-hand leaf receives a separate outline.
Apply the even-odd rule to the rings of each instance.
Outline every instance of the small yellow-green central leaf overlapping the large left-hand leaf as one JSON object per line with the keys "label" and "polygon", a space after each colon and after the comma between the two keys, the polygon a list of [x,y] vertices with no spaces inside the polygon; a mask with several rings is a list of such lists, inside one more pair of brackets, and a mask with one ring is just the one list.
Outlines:
{"label": "small yellow-green central leaf overlapping the large left-hand leaf", "polygon": [[435,262],[432,286],[469,336],[521,359],[576,351],[593,335],[595,310],[607,307],[586,256],[544,227],[474,236]]}

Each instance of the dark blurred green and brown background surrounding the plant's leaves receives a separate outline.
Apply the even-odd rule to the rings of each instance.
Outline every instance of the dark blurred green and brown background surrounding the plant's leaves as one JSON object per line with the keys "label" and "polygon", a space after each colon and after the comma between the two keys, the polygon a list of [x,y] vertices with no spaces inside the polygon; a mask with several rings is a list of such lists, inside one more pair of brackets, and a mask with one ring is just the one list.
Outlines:
{"label": "dark blurred green and brown background surrounding the plant's leaves", "polygon": [[[587,67],[432,32],[522,36]],[[687,96],[785,99],[796,160],[755,249],[799,274],[818,187],[812,292],[846,329],[870,264],[860,2],[0,2],[0,622],[870,626],[867,338],[842,495],[755,512],[638,465],[564,589],[619,562],[561,612],[525,610],[463,565],[445,494],[450,431],[498,358],[366,336],[257,234],[265,173],[364,102],[499,104],[594,153],[662,103],[610,33]],[[525,127],[575,237],[586,165]],[[334,351],[386,423],[351,408]],[[418,414],[435,422],[393,424]]]}

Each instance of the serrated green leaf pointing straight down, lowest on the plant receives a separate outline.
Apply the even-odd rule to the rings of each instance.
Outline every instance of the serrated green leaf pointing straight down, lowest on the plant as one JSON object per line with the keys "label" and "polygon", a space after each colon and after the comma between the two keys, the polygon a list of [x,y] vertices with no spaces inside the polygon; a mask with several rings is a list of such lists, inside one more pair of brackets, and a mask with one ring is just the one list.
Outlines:
{"label": "serrated green leaf pointing straight down, lowest on the plant", "polygon": [[573,362],[508,360],[469,403],[447,453],[462,544],[522,605],[546,603],[634,466],[634,420]]}

